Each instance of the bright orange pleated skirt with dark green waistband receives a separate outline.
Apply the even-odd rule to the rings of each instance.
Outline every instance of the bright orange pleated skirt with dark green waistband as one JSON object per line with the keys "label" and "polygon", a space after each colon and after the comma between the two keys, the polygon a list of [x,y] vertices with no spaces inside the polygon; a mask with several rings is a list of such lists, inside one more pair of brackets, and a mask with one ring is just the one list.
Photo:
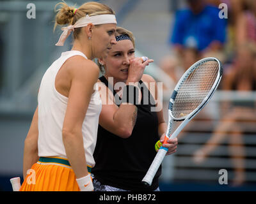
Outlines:
{"label": "bright orange pleated skirt with dark green waistband", "polygon": [[40,157],[29,172],[20,191],[80,191],[67,159]]}

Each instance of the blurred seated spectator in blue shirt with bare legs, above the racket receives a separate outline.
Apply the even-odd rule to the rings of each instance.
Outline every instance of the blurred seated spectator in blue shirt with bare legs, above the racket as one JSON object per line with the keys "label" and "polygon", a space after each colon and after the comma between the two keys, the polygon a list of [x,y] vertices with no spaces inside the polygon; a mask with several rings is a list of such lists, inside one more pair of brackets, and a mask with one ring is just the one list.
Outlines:
{"label": "blurred seated spectator in blue shirt with bare legs, above the racket", "polygon": [[173,55],[164,57],[159,67],[175,83],[193,63],[202,57],[218,57],[225,42],[226,20],[219,18],[220,10],[207,0],[186,0],[189,8],[179,10],[170,33]]}

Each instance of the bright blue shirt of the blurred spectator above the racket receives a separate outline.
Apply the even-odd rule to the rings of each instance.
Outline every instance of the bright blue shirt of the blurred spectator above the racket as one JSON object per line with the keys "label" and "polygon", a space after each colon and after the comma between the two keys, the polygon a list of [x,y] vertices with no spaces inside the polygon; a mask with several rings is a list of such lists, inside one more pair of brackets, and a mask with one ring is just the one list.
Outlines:
{"label": "bright blue shirt of the blurred spectator above the racket", "polygon": [[225,18],[219,18],[220,10],[205,0],[187,0],[188,10],[177,11],[170,33],[170,43],[179,54],[184,47],[200,52],[221,50],[225,43]]}

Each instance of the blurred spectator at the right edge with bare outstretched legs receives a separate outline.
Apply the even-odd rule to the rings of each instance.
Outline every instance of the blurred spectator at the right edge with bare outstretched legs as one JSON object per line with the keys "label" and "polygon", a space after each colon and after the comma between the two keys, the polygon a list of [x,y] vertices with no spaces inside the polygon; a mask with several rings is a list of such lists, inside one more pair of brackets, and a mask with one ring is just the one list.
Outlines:
{"label": "blurred spectator at the right edge with bare outstretched legs", "polygon": [[[223,77],[225,91],[243,91],[241,98],[246,98],[246,91],[256,91],[256,46],[253,43],[243,43],[236,52],[234,66]],[[244,93],[245,91],[245,93]],[[233,184],[243,184],[244,173],[244,145],[243,133],[246,130],[243,122],[256,122],[256,102],[230,101],[225,103],[223,117],[216,126],[213,135],[205,145],[197,150],[193,156],[196,163],[202,163],[209,154],[216,149],[220,142],[229,135],[228,147],[234,164]]]}

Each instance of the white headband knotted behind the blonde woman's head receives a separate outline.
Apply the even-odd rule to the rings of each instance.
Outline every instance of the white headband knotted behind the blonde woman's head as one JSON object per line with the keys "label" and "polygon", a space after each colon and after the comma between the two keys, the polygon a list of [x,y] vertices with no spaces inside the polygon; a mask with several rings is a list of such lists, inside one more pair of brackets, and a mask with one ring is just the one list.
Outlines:
{"label": "white headband knotted behind the blonde woman's head", "polygon": [[72,31],[74,31],[74,28],[85,27],[89,23],[92,23],[93,25],[116,24],[116,17],[115,15],[112,15],[112,14],[104,14],[104,15],[93,15],[92,17],[89,17],[88,15],[86,15],[86,17],[79,18],[76,24],[68,25],[67,27],[61,28],[63,33],[61,34],[58,43],[56,43],[55,45],[63,46],[67,37],[70,35]]}

